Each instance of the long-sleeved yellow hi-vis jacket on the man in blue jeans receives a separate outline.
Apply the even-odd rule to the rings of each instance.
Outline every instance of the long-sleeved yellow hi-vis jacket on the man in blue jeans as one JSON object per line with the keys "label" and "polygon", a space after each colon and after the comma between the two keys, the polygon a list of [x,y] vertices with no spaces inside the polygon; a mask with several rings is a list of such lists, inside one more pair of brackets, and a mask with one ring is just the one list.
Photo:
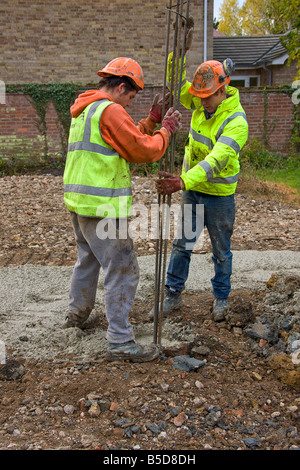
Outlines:
{"label": "long-sleeved yellow hi-vis jacket on the man in blue jeans", "polygon": [[[168,61],[168,79],[171,64],[172,54]],[[240,104],[239,91],[226,86],[227,99],[222,101],[210,119],[206,119],[201,99],[189,93],[191,84],[185,80],[185,74],[184,67],[180,102],[193,114],[181,178],[186,190],[229,196],[236,190],[240,170],[239,151],[248,137],[248,124]]]}

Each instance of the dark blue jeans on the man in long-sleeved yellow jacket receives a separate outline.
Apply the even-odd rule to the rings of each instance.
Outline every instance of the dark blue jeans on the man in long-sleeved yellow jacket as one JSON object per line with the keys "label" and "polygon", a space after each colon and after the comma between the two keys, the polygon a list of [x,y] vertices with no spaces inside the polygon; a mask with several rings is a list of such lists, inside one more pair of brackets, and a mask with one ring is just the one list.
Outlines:
{"label": "dark blue jeans on the man in long-sleeved yellow jacket", "polygon": [[234,194],[231,196],[210,196],[198,191],[184,192],[178,219],[178,228],[181,234],[173,242],[166,286],[179,292],[184,289],[189,274],[193,246],[205,226],[212,244],[215,270],[215,275],[211,279],[213,294],[216,298],[226,299],[231,289],[232,253],[230,241],[234,219]]}

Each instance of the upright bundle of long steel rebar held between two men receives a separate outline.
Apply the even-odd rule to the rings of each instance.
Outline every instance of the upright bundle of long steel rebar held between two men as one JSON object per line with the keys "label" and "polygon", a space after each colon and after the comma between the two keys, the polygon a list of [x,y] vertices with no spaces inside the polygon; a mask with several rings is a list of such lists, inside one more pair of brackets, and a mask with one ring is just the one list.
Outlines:
{"label": "upright bundle of long steel rebar held between two men", "polygon": [[[170,92],[171,106],[179,110],[180,91],[182,86],[183,63],[186,49],[186,36],[189,19],[189,0],[177,0],[172,5],[169,0],[167,7],[167,33],[165,44],[165,65],[163,81],[163,97]],[[173,49],[170,51],[171,36],[173,34]],[[173,52],[172,70],[168,73],[168,57]],[[167,76],[168,75],[168,76]],[[165,110],[163,109],[163,115]],[[176,133],[170,139],[169,147],[160,160],[159,170],[172,173],[174,170]],[[155,257],[155,299],[154,299],[154,343],[161,344],[162,309],[164,302],[164,285],[167,262],[167,246],[170,220],[171,194],[158,195],[157,238]]]}

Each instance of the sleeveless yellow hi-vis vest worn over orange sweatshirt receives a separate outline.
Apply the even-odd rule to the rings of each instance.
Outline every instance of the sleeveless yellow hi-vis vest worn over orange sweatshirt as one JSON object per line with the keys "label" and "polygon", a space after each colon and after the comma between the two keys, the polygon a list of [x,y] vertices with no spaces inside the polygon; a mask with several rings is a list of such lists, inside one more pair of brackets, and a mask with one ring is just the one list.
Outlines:
{"label": "sleeveless yellow hi-vis vest worn over orange sweatshirt", "polygon": [[100,118],[112,104],[95,101],[71,121],[64,171],[64,202],[71,212],[89,217],[126,218],[132,190],[129,163],[101,136]]}

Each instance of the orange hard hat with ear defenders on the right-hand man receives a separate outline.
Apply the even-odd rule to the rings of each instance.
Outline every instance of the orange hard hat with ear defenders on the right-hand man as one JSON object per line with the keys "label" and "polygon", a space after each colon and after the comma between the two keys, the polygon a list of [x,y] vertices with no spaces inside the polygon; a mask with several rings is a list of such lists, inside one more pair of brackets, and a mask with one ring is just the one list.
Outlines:
{"label": "orange hard hat with ear defenders on the right-hand man", "polygon": [[190,86],[191,95],[207,98],[219,88],[228,85],[229,75],[234,71],[231,59],[224,60],[223,64],[217,60],[208,60],[199,65]]}

